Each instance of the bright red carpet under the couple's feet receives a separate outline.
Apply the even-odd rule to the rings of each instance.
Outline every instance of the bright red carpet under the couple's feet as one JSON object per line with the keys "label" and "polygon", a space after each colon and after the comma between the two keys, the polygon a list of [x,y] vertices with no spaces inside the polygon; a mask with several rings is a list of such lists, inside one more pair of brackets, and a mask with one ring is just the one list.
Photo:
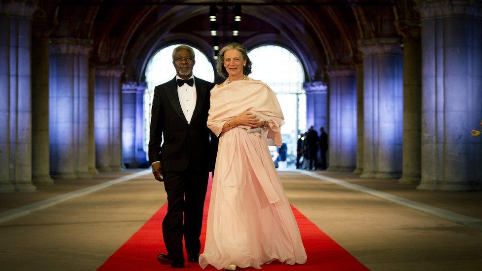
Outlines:
{"label": "bright red carpet under the couple's feet", "polygon": [[[212,180],[210,180],[211,182]],[[201,242],[205,240],[207,209],[210,197],[210,185],[206,196],[206,204],[204,204],[204,220],[202,225]],[[317,271],[317,270],[367,270],[357,259],[344,250],[340,245],[335,243],[328,235],[308,220],[297,209],[293,208],[294,216],[298,222],[298,226],[303,239],[303,244],[308,256],[308,260],[304,265],[288,266],[280,262],[274,262],[270,265],[263,265],[262,270],[277,271]],[[161,252],[166,252],[164,242],[162,240],[162,219],[167,212],[167,204],[159,209],[154,216],[142,226],[142,228],[134,233],[127,242],[125,242],[119,250],[117,250],[107,261],[99,268],[101,271],[107,270],[175,270],[170,266],[163,266],[158,263],[156,256]],[[201,248],[202,252],[203,248]],[[187,257],[186,257],[187,259]],[[202,270],[197,263],[188,263],[186,261],[185,270]],[[216,269],[208,266],[206,270],[215,271]],[[239,270],[255,270],[253,268]]]}

